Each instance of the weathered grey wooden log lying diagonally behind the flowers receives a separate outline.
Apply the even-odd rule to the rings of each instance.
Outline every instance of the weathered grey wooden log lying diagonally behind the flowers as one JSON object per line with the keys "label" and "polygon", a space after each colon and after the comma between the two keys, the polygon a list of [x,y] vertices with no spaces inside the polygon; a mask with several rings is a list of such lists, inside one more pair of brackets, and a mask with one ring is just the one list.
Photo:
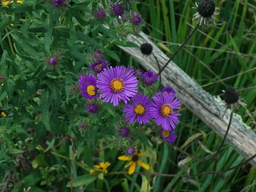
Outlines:
{"label": "weathered grey wooden log lying diagonally behind the flowers", "polygon": [[[169,60],[169,58],[158,47],[148,39],[143,32],[140,33],[141,38],[129,35],[128,41],[140,46],[143,43],[150,43],[153,46],[153,54],[144,56],[139,48],[120,47],[138,61],[146,70],[158,73],[157,62],[161,67]],[[198,83],[181,70],[173,61],[170,61],[166,69],[162,72],[162,84],[171,85],[176,90],[176,96],[186,107],[195,113],[202,121],[204,121],[212,130],[214,130],[221,138],[227,130],[229,122],[228,112],[224,114],[224,109],[215,96],[203,90]],[[232,146],[244,159],[248,159],[256,154],[256,134],[242,122],[239,115],[234,115],[230,131],[226,142]],[[256,158],[250,161],[250,164],[256,167]]]}

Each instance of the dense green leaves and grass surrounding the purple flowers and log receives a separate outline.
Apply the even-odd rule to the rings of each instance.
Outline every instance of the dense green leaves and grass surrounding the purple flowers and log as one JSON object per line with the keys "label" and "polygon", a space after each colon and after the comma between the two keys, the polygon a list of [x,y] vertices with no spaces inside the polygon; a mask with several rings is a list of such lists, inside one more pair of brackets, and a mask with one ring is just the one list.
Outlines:
{"label": "dense green leaves and grass surrounding the purple flowers and log", "polygon": [[[99,161],[111,163],[109,173],[124,171],[125,162],[118,160],[123,151],[119,149],[133,141],[123,142],[116,136],[122,106],[114,108],[110,103],[99,103],[99,113],[88,115],[84,108],[87,101],[81,93],[72,93],[72,87],[77,86],[79,73],[90,71],[88,66],[94,49],[100,49],[112,66],[139,68],[136,61],[117,47],[136,47],[123,36],[137,30],[132,26],[114,26],[114,17],[105,20],[110,29],[91,19],[98,6],[93,0],[72,0],[65,10],[56,9],[45,0],[15,2],[0,7],[0,75],[4,76],[0,108],[8,112],[6,117],[0,118],[0,177],[3,179],[0,187],[8,180],[11,182],[7,188],[12,192],[29,186],[32,187],[30,192],[219,192],[240,191],[250,185],[244,191],[256,190],[253,186],[255,168],[250,164],[225,173],[225,178],[219,175],[189,179],[137,174],[90,175],[90,169]],[[108,9],[108,1],[101,2]],[[220,7],[216,22],[223,24],[200,26],[201,31],[195,33],[174,59],[200,85],[256,67],[255,2],[216,0],[215,5]],[[196,25],[196,21],[192,21],[196,12],[192,9],[194,6],[190,0],[142,0],[128,9],[140,12],[145,21],[142,30],[170,56],[193,30],[191,25]],[[61,64],[52,70],[47,66],[47,57],[59,54],[58,51]],[[218,95],[226,87],[242,89],[255,85],[255,71],[252,71],[204,89]],[[140,89],[153,95],[151,89],[142,84]],[[256,118],[256,90],[240,91],[239,95]],[[134,129],[134,135],[139,136],[134,144],[147,153],[147,157],[141,159],[151,165],[149,172],[186,174],[177,164],[188,156],[174,146],[203,158],[221,144],[221,138],[214,131],[182,107],[181,123],[176,128],[178,138],[173,144],[166,145],[152,135],[150,125]],[[236,113],[250,124],[244,108]],[[81,122],[88,125],[85,131],[79,128]],[[255,129],[255,125],[250,126]],[[192,140],[185,143],[189,137]],[[225,145],[217,170],[230,168],[242,160],[233,148]],[[214,161],[198,163],[192,159],[186,166],[191,175],[211,172]],[[140,166],[136,171],[148,172]]]}

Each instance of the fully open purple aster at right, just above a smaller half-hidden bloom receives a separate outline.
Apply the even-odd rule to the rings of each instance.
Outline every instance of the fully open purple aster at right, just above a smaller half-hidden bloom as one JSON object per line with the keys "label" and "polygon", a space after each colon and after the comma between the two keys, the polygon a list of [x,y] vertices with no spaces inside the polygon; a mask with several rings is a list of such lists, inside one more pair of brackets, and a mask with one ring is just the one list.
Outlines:
{"label": "fully open purple aster at right, just above a smaller half-hidden bloom", "polygon": [[180,113],[175,113],[174,109],[179,109],[181,102],[173,93],[157,93],[153,96],[154,104],[151,107],[151,116],[155,119],[157,125],[162,125],[163,130],[175,130],[175,124],[180,121],[177,116]]}

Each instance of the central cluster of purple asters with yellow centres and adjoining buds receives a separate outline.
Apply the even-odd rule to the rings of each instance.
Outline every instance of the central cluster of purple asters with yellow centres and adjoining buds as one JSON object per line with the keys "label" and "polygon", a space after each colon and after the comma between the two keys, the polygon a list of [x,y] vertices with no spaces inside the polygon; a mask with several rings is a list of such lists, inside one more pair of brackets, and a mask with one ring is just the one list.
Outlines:
{"label": "central cluster of purple asters with yellow centres and adjoining buds", "polygon": [[[167,143],[176,140],[177,134],[174,133],[175,126],[180,123],[175,109],[180,108],[181,102],[175,98],[175,90],[170,86],[165,86],[152,97],[138,92],[138,79],[136,74],[138,70],[125,66],[107,67],[107,62],[99,52],[95,52],[97,60],[90,65],[90,69],[95,72],[81,75],[78,83],[82,96],[85,99],[99,99],[103,102],[111,102],[113,106],[124,102],[125,121],[132,124],[136,121],[139,124],[149,123],[154,119],[157,125],[161,126],[160,136]],[[138,75],[137,75],[138,76]],[[154,84],[158,76],[156,73],[148,70],[143,73],[140,71],[139,77],[146,86]],[[99,107],[94,103],[87,105],[87,112],[96,113]],[[119,130],[121,137],[128,137],[129,128],[122,127]]]}

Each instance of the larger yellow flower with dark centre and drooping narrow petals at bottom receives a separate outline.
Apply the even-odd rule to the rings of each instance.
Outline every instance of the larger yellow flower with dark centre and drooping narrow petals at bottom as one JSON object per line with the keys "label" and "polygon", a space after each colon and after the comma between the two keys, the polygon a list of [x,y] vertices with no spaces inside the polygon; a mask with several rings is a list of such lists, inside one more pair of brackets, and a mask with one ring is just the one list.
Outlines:
{"label": "larger yellow flower with dark centre and drooping narrow petals at bottom", "polygon": [[118,159],[122,161],[130,161],[126,166],[129,167],[128,174],[131,175],[135,172],[136,169],[136,164],[138,163],[140,166],[142,166],[144,169],[149,170],[150,166],[148,164],[143,163],[141,160],[139,160],[139,157],[145,156],[147,153],[137,153],[136,151],[134,152],[134,155],[132,157],[129,156],[119,156]]}

